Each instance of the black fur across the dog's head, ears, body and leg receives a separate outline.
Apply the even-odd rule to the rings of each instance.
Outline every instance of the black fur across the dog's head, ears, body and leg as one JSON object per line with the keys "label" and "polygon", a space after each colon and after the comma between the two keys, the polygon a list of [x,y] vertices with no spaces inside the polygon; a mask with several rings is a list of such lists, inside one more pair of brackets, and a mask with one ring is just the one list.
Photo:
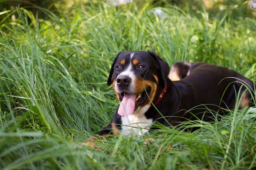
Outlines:
{"label": "black fur across the dog's head, ears, body and leg", "polygon": [[[112,77],[114,81],[122,71],[125,71],[125,67],[127,67],[125,65],[122,68],[116,68],[116,65],[122,59],[125,59],[126,64],[132,62],[129,60],[132,52],[125,51],[116,56],[111,66],[107,85],[111,85]],[[218,116],[215,113],[224,113],[220,108],[234,109],[239,89],[241,89],[239,97],[243,97],[243,102],[241,102],[239,108],[245,105],[249,106],[251,98],[254,97],[250,96],[249,91],[247,91],[247,88],[251,88],[254,91],[253,82],[228,68],[203,62],[178,62],[173,65],[177,69],[171,70],[177,71],[176,74],[181,77],[181,80],[171,81],[168,78],[170,71],[169,65],[163,59],[160,59],[154,51],[136,51],[134,57],[139,59],[140,63],[145,66],[145,69],[138,69],[137,65],[133,65],[132,71],[134,75],[157,83],[157,92],[154,101],[160,96],[164,84],[167,85],[166,94],[156,105],[160,113],[166,116],[166,119],[163,119],[162,115],[154,107],[149,108],[145,112],[145,117],[147,119],[153,119],[154,122],[159,122],[166,126],[170,124],[176,126],[187,120],[200,119],[211,121]],[[160,82],[156,82],[154,76],[157,76]],[[248,87],[242,85],[242,82],[245,82]],[[241,94],[244,91],[244,96],[242,96]],[[190,110],[191,108],[194,109]],[[122,120],[117,111],[111,123],[117,124],[116,128],[121,130]],[[110,124],[98,134],[105,135],[111,132],[113,132],[113,129]]]}

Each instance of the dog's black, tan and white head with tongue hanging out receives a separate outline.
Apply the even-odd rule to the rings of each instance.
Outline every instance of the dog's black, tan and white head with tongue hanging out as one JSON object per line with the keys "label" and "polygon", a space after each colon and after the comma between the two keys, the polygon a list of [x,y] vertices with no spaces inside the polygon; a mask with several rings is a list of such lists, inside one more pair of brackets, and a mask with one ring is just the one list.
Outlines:
{"label": "dog's black, tan and white head with tongue hanging out", "polygon": [[113,85],[119,99],[118,114],[145,113],[151,105],[150,100],[154,102],[163,90],[169,69],[154,52],[120,52],[111,66],[107,82]]}

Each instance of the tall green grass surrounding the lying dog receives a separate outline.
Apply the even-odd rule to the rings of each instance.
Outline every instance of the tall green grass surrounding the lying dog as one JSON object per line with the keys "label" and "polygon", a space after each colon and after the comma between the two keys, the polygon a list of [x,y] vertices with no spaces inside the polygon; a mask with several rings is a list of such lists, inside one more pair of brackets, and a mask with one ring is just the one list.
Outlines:
{"label": "tall green grass surrounding the lying dog", "polygon": [[256,82],[255,16],[237,12],[245,3],[221,17],[201,3],[198,11],[166,4],[159,17],[148,1],[82,2],[57,3],[54,13],[37,7],[44,19],[26,8],[0,15],[0,169],[256,168],[255,116],[237,108],[184,123],[201,127],[193,133],[156,125],[141,138],[97,141],[97,150],[84,143],[118,105],[106,81],[119,51],[154,50],[169,65],[214,63]]}

